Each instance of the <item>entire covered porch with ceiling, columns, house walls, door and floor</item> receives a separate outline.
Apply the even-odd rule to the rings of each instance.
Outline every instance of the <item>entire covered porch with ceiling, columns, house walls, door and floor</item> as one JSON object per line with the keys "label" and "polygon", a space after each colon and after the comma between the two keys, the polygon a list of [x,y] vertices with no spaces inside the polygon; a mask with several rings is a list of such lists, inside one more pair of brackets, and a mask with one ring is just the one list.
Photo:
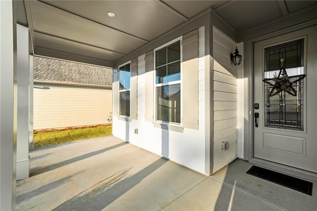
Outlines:
{"label": "entire covered porch with ceiling, columns, house walls, door and floor", "polygon": [[[48,209],[77,206],[86,197],[92,200],[89,206],[96,203],[96,208],[107,209],[117,206],[121,198],[133,198],[137,195],[134,191],[153,187],[150,184],[156,184],[154,181],[160,181],[160,185],[153,189],[164,187],[164,193],[159,192],[157,201],[143,200],[142,206],[154,203],[144,209],[175,210],[191,205],[244,209],[246,204],[237,200],[240,198],[250,199],[254,202],[251,206],[264,210],[301,209],[292,204],[297,199],[305,206],[316,205],[311,201],[316,197],[315,185],[313,196],[302,196],[246,175],[245,171],[253,163],[317,181],[317,1],[10,0],[0,1],[0,10],[1,210],[14,210],[15,205],[23,210],[31,204]],[[284,44],[293,41],[300,45],[296,45],[297,53],[293,47],[287,50],[291,52],[287,59],[298,61],[295,67],[308,75],[297,85],[305,98],[292,100],[297,101],[296,121],[300,127],[290,131],[292,125],[284,127],[289,119],[279,117],[275,121],[274,117],[274,127],[267,132],[262,71],[270,60],[264,61],[264,49],[283,49]],[[232,63],[230,54],[236,47],[242,55],[238,66]],[[274,49],[272,53],[276,54],[272,61],[277,61],[278,68],[276,56],[285,52],[275,53]],[[70,149],[68,155],[62,155],[53,149],[90,141],[29,153],[33,139],[33,55],[113,68],[112,132],[117,138],[96,144],[96,149],[87,152]],[[122,82],[125,80],[128,82]],[[255,106],[258,103],[260,110]],[[283,103],[276,105],[271,111]],[[260,119],[255,113],[260,113]],[[111,153],[116,159],[109,157]],[[115,166],[117,161],[122,165]],[[86,170],[70,167],[80,162]],[[182,173],[189,176],[180,180],[177,177]],[[51,179],[46,179],[50,175]],[[16,186],[16,180],[24,178]],[[254,189],[249,189],[249,181],[259,188],[253,185]],[[264,183],[269,189],[262,188]],[[74,192],[68,192],[68,185],[75,187]],[[44,201],[53,196],[49,193],[56,190],[65,195],[58,198],[60,194],[56,194],[46,204]],[[116,197],[105,201],[110,190]],[[156,197],[156,191],[146,191],[145,197]],[[283,191],[290,197],[280,198]],[[222,192],[231,197],[225,198]],[[209,195],[206,193],[212,198],[205,198]],[[42,200],[43,205],[34,204],[35,199]],[[194,201],[186,204],[187,200]],[[208,206],[199,207],[204,202]],[[138,201],[129,200],[128,205],[131,203],[137,206],[133,203]],[[28,208],[37,209],[32,206]]]}

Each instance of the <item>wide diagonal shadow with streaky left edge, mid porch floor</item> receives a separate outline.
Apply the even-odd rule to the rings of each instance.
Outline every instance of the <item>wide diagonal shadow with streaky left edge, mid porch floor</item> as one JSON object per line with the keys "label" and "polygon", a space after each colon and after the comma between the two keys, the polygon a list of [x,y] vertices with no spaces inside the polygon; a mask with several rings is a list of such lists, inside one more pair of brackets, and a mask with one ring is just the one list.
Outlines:
{"label": "wide diagonal shadow with streaky left edge, mid porch floor", "polygon": [[149,176],[167,161],[168,160],[165,158],[159,158],[141,171],[128,177],[127,174],[129,169],[118,172],[111,177],[96,183],[91,189],[74,196],[72,199],[64,202],[53,210],[102,210],[139,184],[144,178]]}

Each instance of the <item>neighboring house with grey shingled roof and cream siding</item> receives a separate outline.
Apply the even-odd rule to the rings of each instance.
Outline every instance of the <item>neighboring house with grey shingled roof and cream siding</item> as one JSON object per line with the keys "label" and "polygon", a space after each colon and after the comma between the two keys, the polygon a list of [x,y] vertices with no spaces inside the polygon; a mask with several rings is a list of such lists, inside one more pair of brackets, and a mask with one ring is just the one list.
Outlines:
{"label": "neighboring house with grey shingled roof and cream siding", "polygon": [[34,56],[34,130],[105,124],[112,69]]}

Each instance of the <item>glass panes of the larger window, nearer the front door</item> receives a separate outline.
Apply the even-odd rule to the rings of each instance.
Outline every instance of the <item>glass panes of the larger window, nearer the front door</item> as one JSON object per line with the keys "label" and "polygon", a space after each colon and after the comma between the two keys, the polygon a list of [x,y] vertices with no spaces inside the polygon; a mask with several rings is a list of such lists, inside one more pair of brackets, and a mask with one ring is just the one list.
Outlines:
{"label": "glass panes of the larger window, nearer the front door", "polygon": [[155,51],[156,120],[180,123],[180,41]]}

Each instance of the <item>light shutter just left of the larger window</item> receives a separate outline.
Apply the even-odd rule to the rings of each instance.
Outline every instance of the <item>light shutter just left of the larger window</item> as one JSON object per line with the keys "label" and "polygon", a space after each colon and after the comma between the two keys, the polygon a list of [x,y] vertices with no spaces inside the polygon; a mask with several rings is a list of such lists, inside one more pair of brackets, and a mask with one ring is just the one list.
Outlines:
{"label": "light shutter just left of the larger window", "polygon": [[154,95],[154,53],[145,54],[145,120],[153,122]]}

